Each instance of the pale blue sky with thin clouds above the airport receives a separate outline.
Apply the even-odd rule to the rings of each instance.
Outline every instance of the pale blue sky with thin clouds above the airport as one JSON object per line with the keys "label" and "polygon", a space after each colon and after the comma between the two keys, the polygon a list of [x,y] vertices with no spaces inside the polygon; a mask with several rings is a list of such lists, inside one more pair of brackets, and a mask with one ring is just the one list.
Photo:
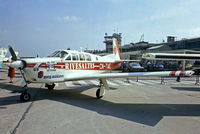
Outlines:
{"label": "pale blue sky with thin clouds above the airport", "polygon": [[122,44],[200,37],[199,0],[0,0],[0,46],[20,56],[55,50],[105,49],[104,34]]}

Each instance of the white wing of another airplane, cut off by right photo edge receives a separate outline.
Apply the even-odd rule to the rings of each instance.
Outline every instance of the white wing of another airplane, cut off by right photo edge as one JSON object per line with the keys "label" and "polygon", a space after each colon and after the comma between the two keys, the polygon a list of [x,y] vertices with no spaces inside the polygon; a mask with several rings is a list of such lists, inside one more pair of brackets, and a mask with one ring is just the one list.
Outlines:
{"label": "white wing of another airplane, cut off by right photo edge", "polygon": [[142,55],[145,59],[156,60],[200,60],[200,54],[170,54],[170,53],[146,53]]}

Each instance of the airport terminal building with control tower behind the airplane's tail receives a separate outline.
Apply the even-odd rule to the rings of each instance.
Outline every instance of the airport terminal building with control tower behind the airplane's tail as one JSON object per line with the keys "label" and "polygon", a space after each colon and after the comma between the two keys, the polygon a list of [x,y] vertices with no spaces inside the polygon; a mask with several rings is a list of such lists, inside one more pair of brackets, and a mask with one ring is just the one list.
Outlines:
{"label": "airport terminal building with control tower behind the airplane's tail", "polygon": [[144,53],[200,53],[200,37],[191,39],[175,40],[174,36],[167,36],[167,42],[162,43],[149,43],[140,41],[137,43],[129,43],[121,45],[122,33],[114,33],[104,36],[104,43],[106,45],[105,53],[112,53],[112,38],[118,40],[123,59],[137,59],[141,60]]}

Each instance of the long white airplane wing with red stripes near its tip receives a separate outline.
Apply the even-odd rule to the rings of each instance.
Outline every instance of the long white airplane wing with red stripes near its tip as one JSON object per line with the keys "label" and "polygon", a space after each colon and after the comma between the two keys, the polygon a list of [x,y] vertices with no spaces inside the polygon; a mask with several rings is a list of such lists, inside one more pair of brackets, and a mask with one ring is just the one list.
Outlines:
{"label": "long white airplane wing with red stripes near its tip", "polygon": [[[138,73],[103,73],[92,74],[88,76],[72,76],[70,80],[85,80],[85,79],[109,79],[109,78],[129,78],[129,77],[145,77],[145,76],[191,76],[193,71],[162,71],[162,72],[138,72]],[[67,81],[68,79],[66,79]]]}

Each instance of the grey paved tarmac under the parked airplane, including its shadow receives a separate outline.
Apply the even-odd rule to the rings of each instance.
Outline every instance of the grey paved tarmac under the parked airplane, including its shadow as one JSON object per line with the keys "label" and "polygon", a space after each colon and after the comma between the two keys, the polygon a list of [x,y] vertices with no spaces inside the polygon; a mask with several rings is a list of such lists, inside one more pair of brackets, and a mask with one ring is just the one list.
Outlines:
{"label": "grey paved tarmac under the parked airplane, including its shadow", "polygon": [[8,83],[0,70],[0,134],[199,134],[200,87],[195,77],[109,80],[111,90],[95,98],[98,81],[30,84],[30,102],[22,103],[16,74]]}

